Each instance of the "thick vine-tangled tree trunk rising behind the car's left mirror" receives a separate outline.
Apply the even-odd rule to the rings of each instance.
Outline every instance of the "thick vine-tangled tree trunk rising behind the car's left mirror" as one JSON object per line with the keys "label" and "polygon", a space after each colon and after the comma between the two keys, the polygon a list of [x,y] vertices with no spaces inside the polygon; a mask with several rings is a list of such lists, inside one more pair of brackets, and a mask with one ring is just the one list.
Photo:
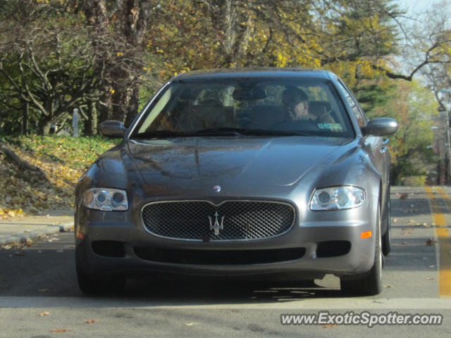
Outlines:
{"label": "thick vine-tangled tree trunk rising behind the car's left mirror", "polygon": [[140,85],[146,74],[147,32],[152,0],[80,1],[93,46],[94,73],[99,80],[100,120],[130,124],[137,115]]}

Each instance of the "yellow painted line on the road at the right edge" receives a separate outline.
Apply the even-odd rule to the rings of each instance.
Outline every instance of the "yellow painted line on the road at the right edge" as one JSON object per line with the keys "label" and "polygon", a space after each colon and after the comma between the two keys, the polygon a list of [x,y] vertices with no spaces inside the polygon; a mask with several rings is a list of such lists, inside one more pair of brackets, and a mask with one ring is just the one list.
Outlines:
{"label": "yellow painted line on the road at the right edge", "polygon": [[[426,194],[431,201],[431,208],[433,212],[433,221],[435,224],[434,232],[438,239],[438,256],[439,256],[439,277],[438,277],[438,291],[440,298],[448,298],[451,296],[451,242],[450,234],[447,230],[447,223],[445,215],[438,203],[438,199],[433,194],[431,187],[426,187]],[[440,197],[445,201],[447,211],[451,211],[451,200],[439,187],[435,187]]]}

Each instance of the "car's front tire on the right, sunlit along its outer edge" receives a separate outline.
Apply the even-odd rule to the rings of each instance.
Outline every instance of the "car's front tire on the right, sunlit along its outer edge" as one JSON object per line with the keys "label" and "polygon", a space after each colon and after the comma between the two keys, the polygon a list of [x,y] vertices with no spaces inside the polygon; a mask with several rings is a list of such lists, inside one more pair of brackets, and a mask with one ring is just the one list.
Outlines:
{"label": "car's front tire on the right, sunlit along its outer edge", "polygon": [[374,247],[374,263],[369,273],[354,280],[340,279],[342,292],[347,294],[359,294],[362,296],[374,296],[382,291],[382,238],[381,238],[381,208],[378,208],[376,218],[376,245]]}

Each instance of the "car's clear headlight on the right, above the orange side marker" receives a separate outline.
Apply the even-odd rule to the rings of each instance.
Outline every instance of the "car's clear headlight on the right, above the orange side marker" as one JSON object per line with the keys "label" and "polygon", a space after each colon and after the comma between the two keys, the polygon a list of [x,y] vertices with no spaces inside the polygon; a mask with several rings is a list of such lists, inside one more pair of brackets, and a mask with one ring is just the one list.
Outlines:
{"label": "car's clear headlight on the right, above the orange side marker", "polygon": [[351,185],[316,189],[310,199],[310,210],[342,210],[362,206],[365,190]]}

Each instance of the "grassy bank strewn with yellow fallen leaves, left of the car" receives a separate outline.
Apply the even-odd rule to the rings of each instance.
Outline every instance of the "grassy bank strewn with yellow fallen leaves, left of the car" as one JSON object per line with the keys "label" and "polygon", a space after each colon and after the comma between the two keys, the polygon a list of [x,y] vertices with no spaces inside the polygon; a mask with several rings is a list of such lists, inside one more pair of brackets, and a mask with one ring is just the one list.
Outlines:
{"label": "grassy bank strewn with yellow fallen leaves, left of the car", "polygon": [[104,151],[118,144],[104,137],[0,137],[20,158],[44,170],[49,182],[0,155],[0,218],[70,208],[78,177]]}

